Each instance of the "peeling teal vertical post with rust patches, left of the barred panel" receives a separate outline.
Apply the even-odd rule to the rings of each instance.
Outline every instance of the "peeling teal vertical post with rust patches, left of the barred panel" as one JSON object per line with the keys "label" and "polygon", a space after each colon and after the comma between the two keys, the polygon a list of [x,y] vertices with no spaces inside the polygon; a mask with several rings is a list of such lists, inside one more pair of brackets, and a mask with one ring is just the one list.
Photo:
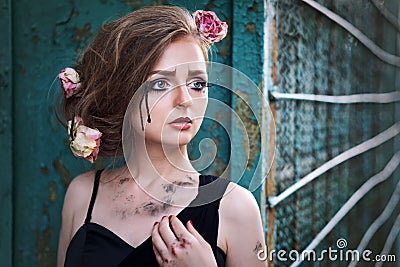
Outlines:
{"label": "peeling teal vertical post with rust patches, left of the barred panel", "polygon": [[[263,1],[233,1],[232,15],[232,67],[243,72],[259,87],[262,87],[263,75],[263,36],[264,36],[264,3]],[[231,146],[235,152],[244,151],[247,140],[251,140],[248,158],[245,153],[236,153],[232,161],[231,172],[235,176],[244,171],[239,184],[248,187],[254,177],[261,177],[262,173],[256,171],[261,153],[261,133],[259,121],[262,101],[257,90],[247,84],[242,84],[233,78],[232,108],[244,123],[245,132],[232,125]],[[262,89],[260,89],[262,90]],[[247,105],[253,108],[249,110]],[[233,120],[233,118],[232,118]],[[244,170],[242,163],[247,161]],[[253,194],[260,202],[260,187]]]}

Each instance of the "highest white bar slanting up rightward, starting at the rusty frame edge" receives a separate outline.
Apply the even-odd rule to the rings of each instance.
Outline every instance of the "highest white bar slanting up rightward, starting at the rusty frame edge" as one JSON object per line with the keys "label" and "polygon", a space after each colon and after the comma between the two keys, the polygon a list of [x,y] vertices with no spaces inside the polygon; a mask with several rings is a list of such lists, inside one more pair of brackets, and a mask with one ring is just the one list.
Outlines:
{"label": "highest white bar slanting up rightward, starting at the rusty frame edge", "polygon": [[268,204],[271,208],[276,206],[278,203],[286,199],[288,196],[302,188],[303,186],[307,185],[315,178],[319,177],[320,175],[324,174],[328,170],[336,167],[337,165],[341,164],[342,162],[351,159],[357,155],[360,155],[372,148],[380,146],[381,144],[385,143],[386,141],[392,139],[400,132],[400,122],[395,123],[387,130],[383,131],[382,133],[376,135],[375,137],[362,142],[361,144],[352,147],[345,152],[342,152],[338,156],[334,157],[333,159],[325,162],[320,167],[315,169],[314,171],[310,172],[291,186],[289,186],[285,191],[280,193],[277,196],[272,196],[268,198]]}

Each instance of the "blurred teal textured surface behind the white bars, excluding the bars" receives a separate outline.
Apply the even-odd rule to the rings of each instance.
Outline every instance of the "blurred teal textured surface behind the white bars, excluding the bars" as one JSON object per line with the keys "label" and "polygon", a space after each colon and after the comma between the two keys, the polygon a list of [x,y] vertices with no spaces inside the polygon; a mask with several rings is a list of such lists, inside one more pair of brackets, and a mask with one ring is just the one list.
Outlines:
{"label": "blurred teal textured surface behind the white bars, excluding the bars", "polygon": [[[317,2],[349,20],[379,46],[396,52],[394,27],[383,20],[370,1]],[[348,95],[382,93],[396,88],[395,67],[380,61],[352,35],[310,6],[301,1],[268,3],[273,9],[270,15],[274,17],[271,29],[277,36],[277,45],[270,52],[277,59],[270,68],[273,84],[269,90]],[[398,10],[398,1],[382,3],[390,10]],[[279,194],[328,159],[395,122],[394,104],[335,105],[278,100],[273,107],[277,154],[268,195]],[[304,249],[353,192],[383,168],[393,155],[393,147],[393,142],[387,142],[351,159],[269,209],[269,248]],[[366,228],[385,207],[396,181],[398,176],[393,175],[386,184],[365,196],[320,243],[317,251],[334,247],[338,238],[345,238],[348,247],[357,246]],[[393,220],[370,243],[373,251],[379,252],[382,248]],[[395,251],[396,248],[392,252]],[[272,266],[288,264],[271,262]],[[341,266],[340,262],[328,261],[308,262],[304,266],[310,264]]]}

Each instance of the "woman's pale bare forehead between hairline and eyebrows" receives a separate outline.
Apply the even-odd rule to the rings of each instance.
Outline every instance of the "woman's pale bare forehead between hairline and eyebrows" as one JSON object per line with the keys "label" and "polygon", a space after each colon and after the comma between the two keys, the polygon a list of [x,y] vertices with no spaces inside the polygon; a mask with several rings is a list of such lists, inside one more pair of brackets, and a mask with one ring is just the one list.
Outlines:
{"label": "woman's pale bare forehead between hairline and eyebrows", "polygon": [[206,68],[203,51],[195,40],[184,38],[171,43],[154,65],[153,71],[177,67],[178,69]]}

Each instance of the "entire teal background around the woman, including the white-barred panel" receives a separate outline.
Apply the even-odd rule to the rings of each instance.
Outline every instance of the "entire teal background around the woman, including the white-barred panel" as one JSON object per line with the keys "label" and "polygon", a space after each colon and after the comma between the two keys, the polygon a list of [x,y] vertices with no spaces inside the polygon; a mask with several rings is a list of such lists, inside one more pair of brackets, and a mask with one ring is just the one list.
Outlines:
{"label": "entire teal background around the woman, including the white-barred panel", "polygon": [[399,258],[400,3],[318,3],[0,0],[0,265],[55,266],[69,182],[107,165],[92,166],[70,153],[53,111],[59,70],[76,62],[101,24],[155,4],[215,11],[229,33],[213,61],[243,72],[263,92],[234,77],[231,90],[210,90],[246,131],[231,114],[219,117],[230,122],[229,134],[217,120],[205,120],[191,156],[204,156],[200,141],[211,138],[217,154],[202,172],[220,175],[229,168],[232,176],[243,173],[238,182],[248,188],[268,177],[251,191],[269,250],[337,249],[342,239],[343,249]]}

